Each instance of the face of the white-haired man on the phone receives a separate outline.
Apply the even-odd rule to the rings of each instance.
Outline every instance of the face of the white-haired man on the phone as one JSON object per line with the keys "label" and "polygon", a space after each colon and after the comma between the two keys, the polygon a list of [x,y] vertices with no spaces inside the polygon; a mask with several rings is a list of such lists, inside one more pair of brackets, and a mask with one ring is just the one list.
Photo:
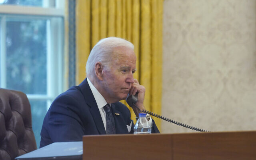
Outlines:
{"label": "face of the white-haired man on the phone", "polygon": [[133,73],[136,70],[136,55],[127,47],[114,49],[112,62],[103,70],[103,88],[106,98],[113,102],[123,100],[134,83]]}

